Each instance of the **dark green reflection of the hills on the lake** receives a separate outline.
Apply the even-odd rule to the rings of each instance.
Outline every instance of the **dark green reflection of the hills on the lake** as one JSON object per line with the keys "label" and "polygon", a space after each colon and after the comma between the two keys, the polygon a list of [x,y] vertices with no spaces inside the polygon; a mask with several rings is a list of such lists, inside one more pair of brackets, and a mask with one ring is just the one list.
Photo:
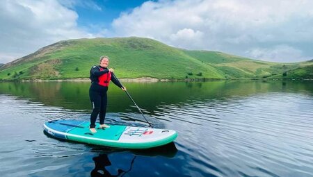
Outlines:
{"label": "dark green reflection of the hills on the lake", "polygon": [[[1,83],[0,94],[12,94],[40,101],[47,106],[72,110],[90,110],[88,89],[90,83],[42,82]],[[161,104],[188,103],[194,100],[227,99],[232,96],[249,96],[264,92],[312,93],[313,85],[307,81],[211,81],[204,83],[125,83],[129,94],[138,106],[153,112]],[[115,85],[109,88],[108,112],[125,112],[132,109],[127,95]],[[136,109],[134,108],[134,111]]]}

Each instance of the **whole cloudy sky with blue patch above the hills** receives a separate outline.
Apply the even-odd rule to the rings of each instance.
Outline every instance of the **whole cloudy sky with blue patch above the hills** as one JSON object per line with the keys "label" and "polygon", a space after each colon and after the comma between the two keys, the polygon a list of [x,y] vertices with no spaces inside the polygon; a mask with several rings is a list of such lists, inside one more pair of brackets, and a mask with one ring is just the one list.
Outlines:
{"label": "whole cloudy sky with blue patch above the hills", "polygon": [[60,40],[129,36],[271,62],[312,60],[313,1],[0,1],[0,63]]}

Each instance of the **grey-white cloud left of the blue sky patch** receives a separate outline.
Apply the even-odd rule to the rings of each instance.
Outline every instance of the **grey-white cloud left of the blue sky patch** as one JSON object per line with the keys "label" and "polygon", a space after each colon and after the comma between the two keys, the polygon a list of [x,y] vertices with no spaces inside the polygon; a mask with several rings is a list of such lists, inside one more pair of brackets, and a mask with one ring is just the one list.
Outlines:
{"label": "grey-white cloud left of the blue sky patch", "polygon": [[77,12],[54,0],[1,1],[0,62],[60,40],[93,37],[77,27],[77,18]]}

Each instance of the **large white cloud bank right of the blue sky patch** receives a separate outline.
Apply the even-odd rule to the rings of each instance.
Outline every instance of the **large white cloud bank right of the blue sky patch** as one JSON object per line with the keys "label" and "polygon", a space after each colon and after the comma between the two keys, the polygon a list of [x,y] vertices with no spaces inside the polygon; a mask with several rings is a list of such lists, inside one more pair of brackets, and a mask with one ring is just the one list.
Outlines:
{"label": "large white cloud bank right of the blue sky patch", "polygon": [[[111,35],[151,37],[175,47],[273,61],[287,58],[280,55],[283,45],[293,49],[293,60],[306,60],[313,56],[310,47],[303,47],[313,47],[312,7],[310,0],[147,1],[115,19]],[[255,54],[270,49],[277,53]]]}

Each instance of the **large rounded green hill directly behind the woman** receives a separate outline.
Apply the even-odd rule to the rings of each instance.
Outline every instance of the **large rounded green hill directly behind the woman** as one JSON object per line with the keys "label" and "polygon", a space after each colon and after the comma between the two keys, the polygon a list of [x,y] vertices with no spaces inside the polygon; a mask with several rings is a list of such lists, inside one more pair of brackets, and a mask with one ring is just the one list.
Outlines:
{"label": "large rounded green hill directly behind the woman", "polygon": [[0,78],[88,78],[90,67],[98,65],[103,55],[111,58],[109,67],[120,78],[224,78],[223,71],[179,49],[139,37],[58,42],[8,63]]}

